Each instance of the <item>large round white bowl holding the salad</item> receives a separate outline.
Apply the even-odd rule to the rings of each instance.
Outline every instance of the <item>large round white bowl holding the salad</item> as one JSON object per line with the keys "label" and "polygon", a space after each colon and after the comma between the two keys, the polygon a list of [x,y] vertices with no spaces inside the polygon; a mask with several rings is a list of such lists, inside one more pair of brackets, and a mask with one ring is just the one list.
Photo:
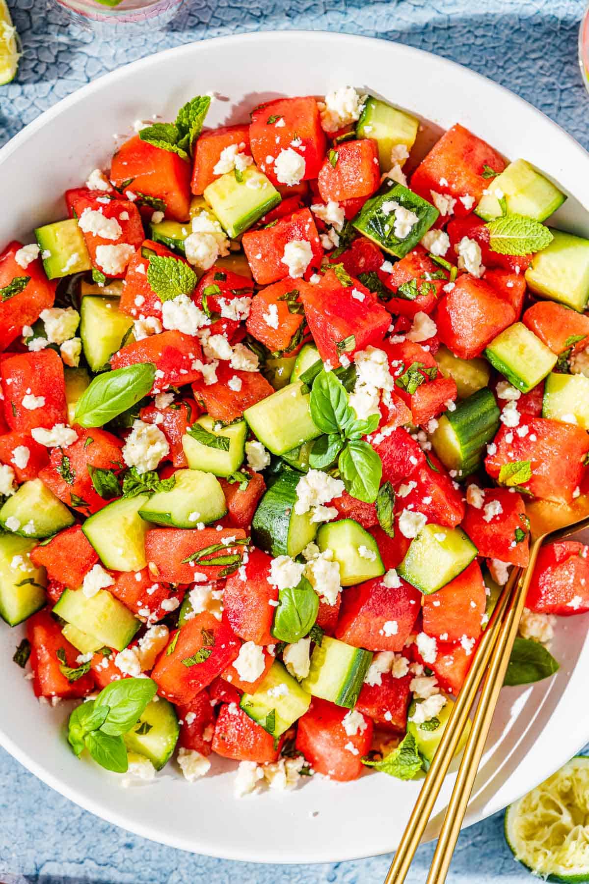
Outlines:
{"label": "large round white bowl holding the salad", "polygon": [[[62,194],[108,164],[113,133],[160,114],[174,118],[193,95],[214,90],[208,122],[242,122],[276,95],[323,95],[351,84],[411,110],[429,124],[459,121],[506,156],[524,156],[570,198],[557,222],[589,235],[589,159],[539,110],[463,67],[420,50],[345,34],[240,34],[193,43],[127,65],[46,111],[0,150],[0,246],[31,241],[32,228],[64,217]],[[438,129],[438,132],[440,130]],[[561,668],[534,687],[503,690],[489,748],[466,821],[473,823],[532,789],[589,736],[585,617],[560,621],[553,651]],[[121,789],[115,774],[79,761],[64,740],[67,709],[41,706],[11,664],[22,630],[0,628],[0,742],[64,796],[103,819],[154,841],[216,857],[271,863],[327,862],[384,853],[396,846],[419,782],[384,774],[341,784],[320,778],[292,793],[233,797],[233,765],[191,785],[176,771],[153,785]],[[171,766],[170,766],[171,767]],[[217,775],[215,775],[215,773]],[[446,782],[430,822],[449,796]]]}

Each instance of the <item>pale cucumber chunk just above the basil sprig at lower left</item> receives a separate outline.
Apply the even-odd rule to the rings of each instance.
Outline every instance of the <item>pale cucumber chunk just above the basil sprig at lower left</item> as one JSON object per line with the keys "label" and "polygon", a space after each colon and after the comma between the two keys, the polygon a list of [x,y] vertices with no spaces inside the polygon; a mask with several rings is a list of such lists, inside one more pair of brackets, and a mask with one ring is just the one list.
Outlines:
{"label": "pale cucumber chunk just above the basil sprig at lower left", "polygon": [[106,644],[117,651],[126,648],[141,625],[108,590],[99,590],[92,598],[81,590],[65,590],[53,613],[87,636],[94,636],[100,647]]}

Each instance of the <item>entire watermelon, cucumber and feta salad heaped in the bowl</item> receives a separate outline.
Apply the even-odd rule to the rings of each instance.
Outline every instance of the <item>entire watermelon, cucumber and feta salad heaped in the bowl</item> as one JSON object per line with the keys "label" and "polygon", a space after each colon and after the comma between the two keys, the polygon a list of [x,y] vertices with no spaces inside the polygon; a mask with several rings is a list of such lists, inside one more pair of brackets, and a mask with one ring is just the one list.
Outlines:
{"label": "entire watermelon, cucumber and feta salad heaped in the bowl", "polygon": [[[353,88],[210,101],[0,255],[0,615],[124,782],[410,779],[530,530],[589,513],[589,240],[460,124],[424,156]],[[588,610],[547,545],[507,682]]]}

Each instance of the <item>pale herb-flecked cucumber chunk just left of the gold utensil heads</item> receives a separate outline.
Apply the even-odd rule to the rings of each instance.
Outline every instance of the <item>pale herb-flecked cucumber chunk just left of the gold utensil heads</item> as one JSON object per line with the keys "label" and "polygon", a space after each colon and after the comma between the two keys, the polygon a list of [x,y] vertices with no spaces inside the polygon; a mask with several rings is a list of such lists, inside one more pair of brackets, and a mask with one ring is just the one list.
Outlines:
{"label": "pale herb-flecked cucumber chunk just left of the gold utensil heads", "polygon": [[429,595],[468,568],[477,552],[461,528],[429,524],[412,540],[396,570],[407,583]]}

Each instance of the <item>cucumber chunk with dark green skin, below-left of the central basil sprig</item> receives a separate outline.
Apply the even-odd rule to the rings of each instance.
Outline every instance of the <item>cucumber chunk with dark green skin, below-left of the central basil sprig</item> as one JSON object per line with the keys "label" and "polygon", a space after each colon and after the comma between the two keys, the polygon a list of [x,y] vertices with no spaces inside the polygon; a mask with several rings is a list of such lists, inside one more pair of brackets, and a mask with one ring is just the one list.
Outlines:
{"label": "cucumber chunk with dark green skin, below-left of the central basil sprig", "polygon": [[297,485],[300,473],[284,470],[264,494],[253,515],[253,545],[273,556],[290,555],[294,559],[311,543],[317,533],[317,522],[311,512],[297,515]]}

